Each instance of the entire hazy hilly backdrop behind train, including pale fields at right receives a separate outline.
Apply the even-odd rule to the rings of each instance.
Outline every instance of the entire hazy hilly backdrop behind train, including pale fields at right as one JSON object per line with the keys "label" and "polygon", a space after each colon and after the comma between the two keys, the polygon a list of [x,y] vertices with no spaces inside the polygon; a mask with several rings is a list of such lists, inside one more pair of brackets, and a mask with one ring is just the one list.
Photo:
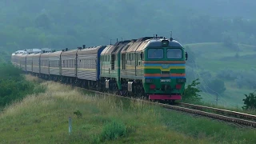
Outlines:
{"label": "entire hazy hilly backdrop behind train, including pale fields at right", "polygon": [[186,46],[188,81],[206,102],[242,106],[256,90],[254,0],[2,0],[0,61],[14,50],[75,49],[116,38],[170,37]]}

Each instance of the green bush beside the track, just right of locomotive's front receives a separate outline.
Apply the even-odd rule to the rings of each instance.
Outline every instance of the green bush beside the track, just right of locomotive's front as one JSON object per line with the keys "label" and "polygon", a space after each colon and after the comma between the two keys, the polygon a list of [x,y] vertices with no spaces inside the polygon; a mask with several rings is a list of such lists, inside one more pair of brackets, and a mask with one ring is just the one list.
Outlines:
{"label": "green bush beside the track, just right of locomotive's front", "polygon": [[182,100],[186,102],[200,102],[202,98],[201,98],[201,95],[198,93],[200,93],[202,90],[199,90],[196,87],[199,84],[200,82],[198,82],[198,78],[197,78],[190,85],[186,86],[184,95],[182,96]]}

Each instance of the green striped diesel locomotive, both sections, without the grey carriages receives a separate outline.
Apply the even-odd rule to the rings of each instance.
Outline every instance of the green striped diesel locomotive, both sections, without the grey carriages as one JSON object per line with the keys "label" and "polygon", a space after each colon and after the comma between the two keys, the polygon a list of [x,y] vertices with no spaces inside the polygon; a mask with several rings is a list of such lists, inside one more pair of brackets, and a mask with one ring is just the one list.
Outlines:
{"label": "green striped diesel locomotive, both sections, without the grey carriages", "polygon": [[101,54],[105,91],[149,99],[180,100],[187,53],[172,38],[145,37],[117,42]]}

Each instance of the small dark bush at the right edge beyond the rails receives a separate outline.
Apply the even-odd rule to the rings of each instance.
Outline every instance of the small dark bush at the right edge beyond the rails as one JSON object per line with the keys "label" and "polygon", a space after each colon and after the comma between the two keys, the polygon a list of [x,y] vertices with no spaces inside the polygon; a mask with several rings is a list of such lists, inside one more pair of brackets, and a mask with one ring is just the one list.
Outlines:
{"label": "small dark bush at the right edge beyond the rails", "polygon": [[[254,93],[256,90],[254,91]],[[245,106],[242,106],[243,110],[255,110],[256,109],[256,94],[250,93],[250,94],[245,94],[246,98],[242,99],[244,102]]]}

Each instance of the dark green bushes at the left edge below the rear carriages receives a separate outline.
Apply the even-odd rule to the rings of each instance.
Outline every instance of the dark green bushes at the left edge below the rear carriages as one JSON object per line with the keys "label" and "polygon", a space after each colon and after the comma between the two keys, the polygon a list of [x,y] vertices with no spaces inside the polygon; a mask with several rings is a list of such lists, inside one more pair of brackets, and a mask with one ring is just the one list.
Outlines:
{"label": "dark green bushes at the left edge below the rear carriages", "polygon": [[10,62],[0,62],[0,110],[11,102],[22,100],[27,94],[37,94],[43,91],[37,82],[28,82],[22,75],[22,70]]}

